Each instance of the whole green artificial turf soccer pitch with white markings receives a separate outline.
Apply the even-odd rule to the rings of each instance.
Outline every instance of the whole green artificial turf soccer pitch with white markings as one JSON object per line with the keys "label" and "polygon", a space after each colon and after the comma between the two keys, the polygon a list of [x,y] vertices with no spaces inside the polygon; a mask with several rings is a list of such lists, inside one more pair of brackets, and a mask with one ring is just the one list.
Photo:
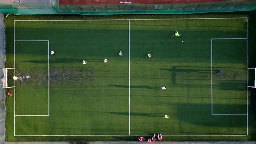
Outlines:
{"label": "whole green artificial turf soccer pitch with white markings", "polygon": [[10,17],[7,141],[251,140],[247,18],[210,16]]}

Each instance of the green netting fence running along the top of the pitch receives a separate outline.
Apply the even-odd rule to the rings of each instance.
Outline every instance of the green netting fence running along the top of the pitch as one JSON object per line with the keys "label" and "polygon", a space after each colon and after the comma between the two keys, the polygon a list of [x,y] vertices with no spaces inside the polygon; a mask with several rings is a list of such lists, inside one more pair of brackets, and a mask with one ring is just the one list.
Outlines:
{"label": "green netting fence running along the top of the pitch", "polygon": [[187,14],[210,12],[235,12],[256,9],[256,0],[249,2],[226,1],[220,3],[175,3],[175,4],[100,4],[100,5],[59,5],[54,0],[45,3],[1,3],[0,13],[4,14]]}

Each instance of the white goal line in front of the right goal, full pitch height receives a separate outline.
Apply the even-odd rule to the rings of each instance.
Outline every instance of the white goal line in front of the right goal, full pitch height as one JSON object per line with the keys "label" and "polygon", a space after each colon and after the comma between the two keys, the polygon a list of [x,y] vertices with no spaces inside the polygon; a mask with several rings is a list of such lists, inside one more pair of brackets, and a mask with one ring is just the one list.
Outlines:
{"label": "white goal line in front of the right goal, full pitch height", "polygon": [[[248,18],[246,18],[246,67],[248,68]],[[246,85],[248,85],[248,69],[246,69]],[[246,104],[247,104],[247,135],[248,135],[248,87],[246,88]]]}

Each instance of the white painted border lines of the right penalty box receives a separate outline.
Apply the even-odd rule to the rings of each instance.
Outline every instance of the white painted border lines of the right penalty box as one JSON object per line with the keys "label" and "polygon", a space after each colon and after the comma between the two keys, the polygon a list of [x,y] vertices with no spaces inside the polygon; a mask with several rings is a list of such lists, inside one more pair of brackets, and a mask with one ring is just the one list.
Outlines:
{"label": "white painted border lines of the right penalty box", "polygon": [[[246,18],[247,20],[247,18]],[[248,34],[246,36],[248,38]],[[213,114],[213,40],[225,40],[225,39],[246,39],[246,43],[248,41],[247,38],[213,38],[211,39],[211,70],[212,70],[212,74],[211,74],[211,93],[212,93],[212,98],[211,98],[211,106],[212,106],[212,115],[232,115],[232,114]],[[247,53],[247,44],[246,44],[246,53]],[[247,61],[247,54],[246,54],[246,61]],[[246,62],[246,65],[247,65],[247,62]],[[248,67],[248,66],[246,66]],[[248,72],[248,70],[247,70]],[[246,72],[246,75],[247,75],[247,72]],[[247,79],[247,83],[248,83],[248,78]],[[247,84],[248,85],[248,84]],[[248,87],[247,88],[247,114],[241,114],[241,115],[246,115],[247,116],[247,135],[248,135]],[[239,114],[238,114],[239,115]]]}

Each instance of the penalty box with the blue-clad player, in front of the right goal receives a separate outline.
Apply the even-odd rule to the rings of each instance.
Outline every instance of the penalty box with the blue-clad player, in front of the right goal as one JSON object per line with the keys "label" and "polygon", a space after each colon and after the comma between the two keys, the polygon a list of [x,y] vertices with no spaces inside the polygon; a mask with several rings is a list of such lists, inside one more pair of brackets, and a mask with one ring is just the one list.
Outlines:
{"label": "penalty box with the blue-clad player, in front of the right goal", "polygon": [[246,44],[246,38],[211,40],[212,115],[247,115]]}

